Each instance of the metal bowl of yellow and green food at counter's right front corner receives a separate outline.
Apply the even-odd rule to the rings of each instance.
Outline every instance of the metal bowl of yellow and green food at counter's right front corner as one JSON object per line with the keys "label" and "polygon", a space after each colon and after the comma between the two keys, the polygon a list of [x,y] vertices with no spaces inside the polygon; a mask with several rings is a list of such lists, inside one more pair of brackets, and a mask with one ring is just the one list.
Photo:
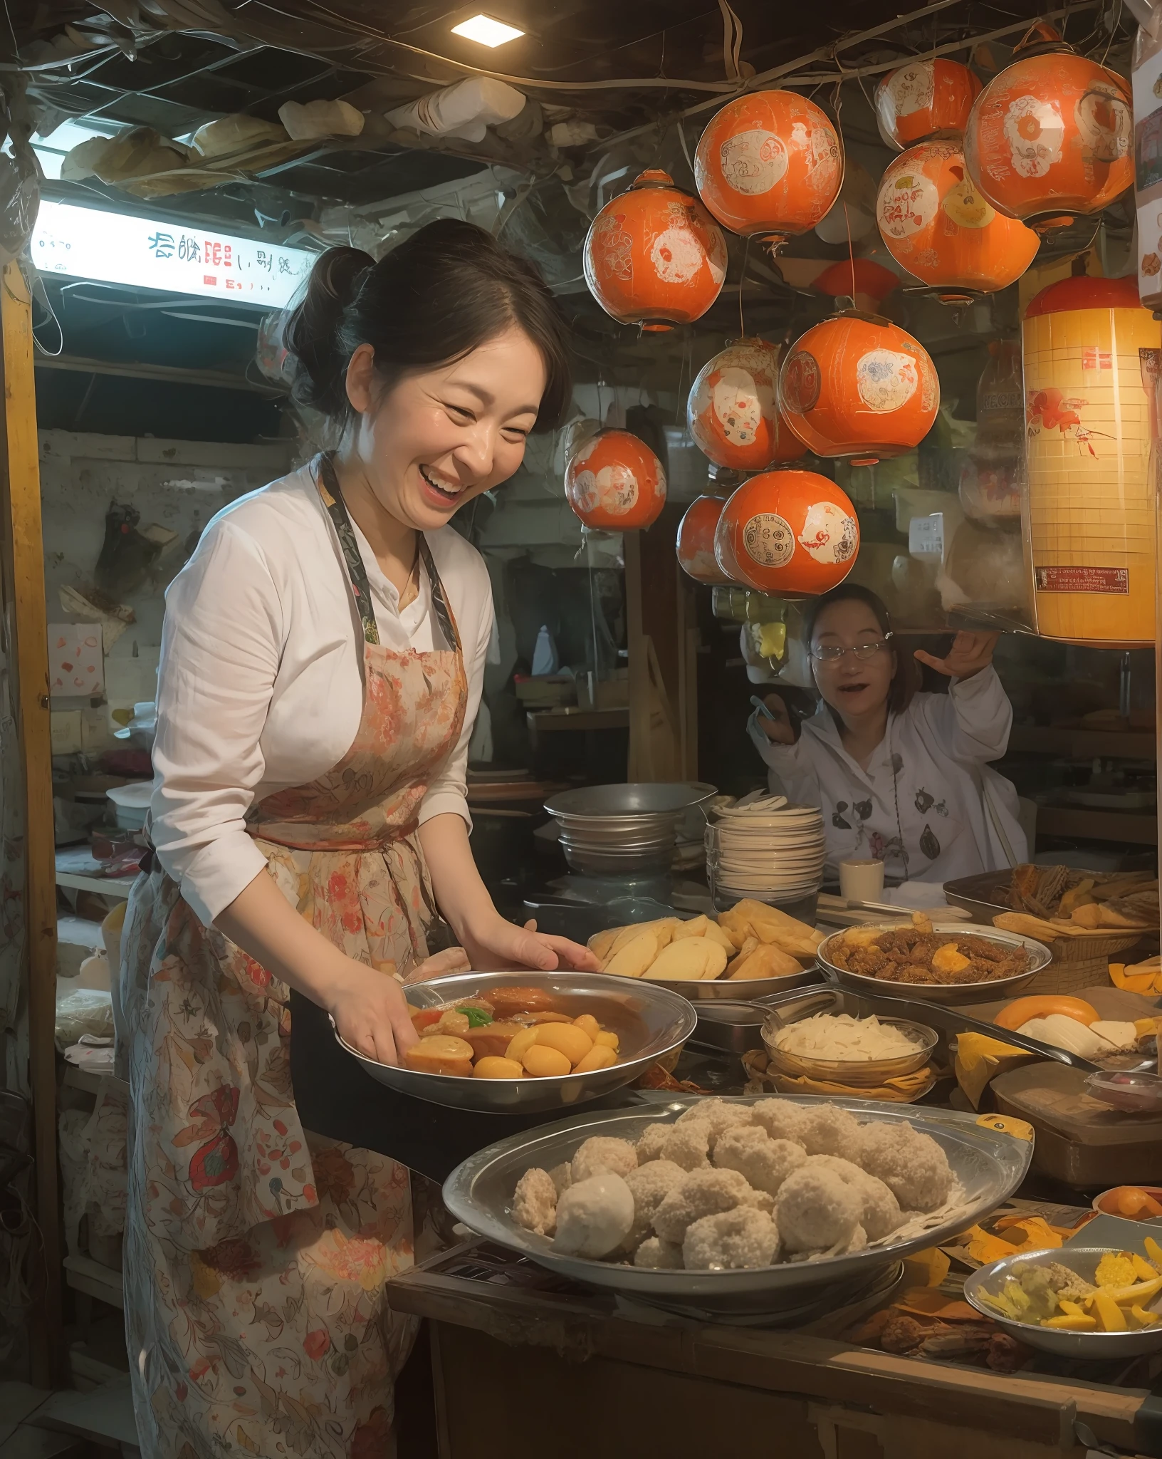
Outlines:
{"label": "metal bowl of yellow and green food at counter's right front corner", "polygon": [[[1045,1352],[1058,1352],[1063,1357],[1088,1358],[1091,1361],[1131,1358],[1143,1352],[1158,1352],[1162,1350],[1162,1313],[1158,1312],[1158,1307],[1162,1306],[1162,1296],[1158,1291],[1146,1299],[1146,1306],[1139,1304],[1139,1310],[1155,1317],[1158,1326],[1137,1326],[1133,1310],[1124,1310],[1124,1307],[1128,1307],[1128,1303],[1118,1304],[1114,1301],[1114,1307],[1121,1315],[1118,1320],[1124,1322],[1126,1326],[1121,1331],[1112,1332],[1104,1331],[1105,1319],[1101,1310],[1096,1310],[1082,1294],[1083,1287],[1092,1287],[1096,1282],[1098,1263],[1104,1256],[1110,1255],[1117,1256],[1118,1253],[1115,1250],[1111,1252],[1105,1246],[1063,1246],[1060,1250],[1053,1252],[1002,1256],[999,1262],[990,1262],[965,1278],[964,1296],[977,1312],[990,1317],[1021,1342],[1026,1342],[1031,1348],[1041,1348]],[[1038,1269],[1044,1269],[1045,1277],[1032,1278],[1031,1281],[1029,1274]],[[1080,1278],[1080,1285],[1067,1284],[1069,1272]],[[1159,1281],[1162,1281],[1162,1274],[1159,1275]],[[1056,1303],[1060,1316],[1069,1317],[1075,1323],[1085,1320],[1088,1331],[1072,1331],[1070,1326],[1064,1325],[1048,1328],[1037,1320],[1015,1320],[1007,1316],[996,1299],[1000,1297],[1002,1303],[1006,1301],[1006,1288],[1010,1282],[1031,1300],[1031,1312],[1047,1310],[1053,1296],[1045,1294],[1045,1288],[1053,1294],[1054,1285],[1060,1284],[1061,1297]],[[1118,1291],[1124,1293],[1127,1290],[1128,1284],[1127,1287],[1114,1288],[1110,1293],[1110,1300],[1112,1301],[1112,1297]],[[1149,1290],[1149,1284],[1145,1284],[1145,1290]],[[990,1301],[990,1297],[994,1300]],[[1076,1307],[1080,1317],[1061,1310],[1061,1300]],[[1012,1307],[1012,1303],[1009,1301],[1006,1306]],[[1105,1310],[1108,1312],[1110,1309]],[[1091,1322],[1093,1323],[1092,1328],[1089,1326]]]}

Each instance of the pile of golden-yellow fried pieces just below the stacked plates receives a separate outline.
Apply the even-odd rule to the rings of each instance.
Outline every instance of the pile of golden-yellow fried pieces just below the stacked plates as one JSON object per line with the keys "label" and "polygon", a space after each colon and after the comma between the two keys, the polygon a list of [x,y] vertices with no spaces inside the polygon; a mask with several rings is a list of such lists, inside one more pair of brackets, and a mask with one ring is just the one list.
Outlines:
{"label": "pile of golden-yellow fried pieces just below the stacked plates", "polygon": [[717,921],[669,916],[614,926],[589,938],[601,970],[660,982],[710,982],[716,978],[786,978],[815,963],[822,943],[806,922],[749,899]]}

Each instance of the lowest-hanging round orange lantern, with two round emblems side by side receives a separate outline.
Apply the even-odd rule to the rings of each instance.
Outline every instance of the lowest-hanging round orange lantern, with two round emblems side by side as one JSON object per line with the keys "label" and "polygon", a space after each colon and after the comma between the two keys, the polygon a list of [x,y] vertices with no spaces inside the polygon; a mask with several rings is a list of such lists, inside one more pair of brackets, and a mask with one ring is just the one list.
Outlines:
{"label": "lowest-hanging round orange lantern, with two round emblems side by side", "polygon": [[764,471],[722,509],[723,556],[738,581],[779,597],[827,592],[856,562],[859,521],[850,499],[816,471]]}

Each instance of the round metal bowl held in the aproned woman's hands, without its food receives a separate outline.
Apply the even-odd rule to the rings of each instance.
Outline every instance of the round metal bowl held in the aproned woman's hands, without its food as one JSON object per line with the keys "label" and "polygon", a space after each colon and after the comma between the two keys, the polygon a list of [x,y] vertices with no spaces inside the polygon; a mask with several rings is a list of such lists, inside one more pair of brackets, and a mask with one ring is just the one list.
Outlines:
{"label": "round metal bowl held in the aproned woman's hands, without its food", "polygon": [[426,983],[410,983],[404,994],[413,1008],[439,1008],[458,998],[487,998],[490,988],[512,985],[541,988],[561,998],[574,1017],[593,1014],[598,1023],[620,1036],[620,1061],[592,1074],[563,1074],[541,1080],[475,1080],[379,1064],[357,1053],[338,1032],[335,1037],[372,1078],[399,1094],[414,1094],[452,1109],[523,1115],[583,1104],[633,1083],[650,1064],[679,1049],[698,1021],[690,1002],[660,983],[605,978],[602,973],[455,973]]}

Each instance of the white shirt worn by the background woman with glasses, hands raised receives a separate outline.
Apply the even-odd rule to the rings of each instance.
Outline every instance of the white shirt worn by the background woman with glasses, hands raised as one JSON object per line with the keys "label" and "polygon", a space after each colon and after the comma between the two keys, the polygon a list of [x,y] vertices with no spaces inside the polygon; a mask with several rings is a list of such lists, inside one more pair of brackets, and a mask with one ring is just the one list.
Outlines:
{"label": "white shirt worn by the background woman with glasses, hands raised", "polygon": [[1012,721],[990,667],[889,713],[866,770],[844,750],[822,702],[793,746],[773,744],[757,711],[746,728],[770,767],[770,788],[822,807],[828,880],[838,878],[841,861],[875,856],[894,881],[951,881],[1009,865],[983,786],[1013,856],[1028,855],[1016,791],[987,765],[1005,754]]}

